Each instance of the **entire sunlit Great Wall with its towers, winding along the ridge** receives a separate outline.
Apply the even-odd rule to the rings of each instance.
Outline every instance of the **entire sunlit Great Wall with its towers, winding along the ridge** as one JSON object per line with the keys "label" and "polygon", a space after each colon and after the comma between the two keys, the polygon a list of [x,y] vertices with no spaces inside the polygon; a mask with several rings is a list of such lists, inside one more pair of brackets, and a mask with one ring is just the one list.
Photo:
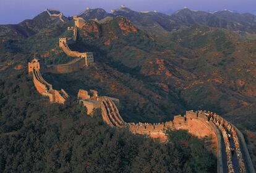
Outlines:
{"label": "entire sunlit Great Wall with its towers, winding along the ridge", "polygon": [[[50,14],[49,14],[50,15]],[[60,38],[59,47],[75,59],[64,65],[46,66],[42,71],[49,73],[71,73],[85,66],[93,64],[92,52],[75,52],[70,50],[69,43],[77,41],[78,28],[85,25],[83,18],[74,17],[75,26],[68,30],[74,31],[73,38]],[[28,73],[33,74],[33,82],[36,90],[43,96],[49,97],[50,102],[64,103],[69,97],[61,89],[56,91],[53,86],[43,79],[40,73],[40,62],[33,59],[28,63]],[[85,91],[80,89],[77,94],[79,103],[87,107],[87,114],[93,110],[101,109],[103,121],[111,127],[127,127],[134,134],[147,135],[148,137],[166,140],[165,131],[168,129],[184,129],[199,138],[210,138],[216,149],[218,160],[218,173],[255,173],[254,165],[250,159],[249,151],[242,133],[231,123],[210,111],[186,111],[186,115],[174,116],[173,121],[165,123],[126,123],[119,113],[119,99],[106,96],[98,96],[94,90]]]}

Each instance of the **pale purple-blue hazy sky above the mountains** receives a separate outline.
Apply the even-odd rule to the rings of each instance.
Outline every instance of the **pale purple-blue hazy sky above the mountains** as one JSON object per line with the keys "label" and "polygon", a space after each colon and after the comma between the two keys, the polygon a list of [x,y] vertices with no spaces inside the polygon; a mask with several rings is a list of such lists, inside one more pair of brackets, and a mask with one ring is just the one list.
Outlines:
{"label": "pale purple-blue hazy sky above the mountains", "polygon": [[86,7],[118,9],[122,4],[133,10],[170,12],[184,6],[193,10],[234,10],[256,14],[256,0],[0,0],[0,24],[19,23],[33,18],[46,8],[59,9],[64,15],[79,14]]}

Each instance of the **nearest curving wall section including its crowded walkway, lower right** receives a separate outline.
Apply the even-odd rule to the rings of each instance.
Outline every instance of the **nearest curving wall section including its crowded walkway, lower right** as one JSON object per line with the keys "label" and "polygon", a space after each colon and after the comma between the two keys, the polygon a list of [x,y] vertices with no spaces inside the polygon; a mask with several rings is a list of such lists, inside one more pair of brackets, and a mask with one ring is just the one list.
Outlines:
{"label": "nearest curving wall section including its crowded walkway, lower right", "polygon": [[[128,123],[128,127],[135,134],[161,140],[166,140],[167,129],[184,129],[199,138],[210,137],[216,148],[218,172],[233,173],[234,170],[239,170],[241,173],[255,173],[242,133],[226,119],[210,111],[186,111],[184,116],[174,116],[173,121],[155,124]],[[237,159],[238,165],[234,163],[234,158]],[[226,165],[227,170],[223,165]]]}

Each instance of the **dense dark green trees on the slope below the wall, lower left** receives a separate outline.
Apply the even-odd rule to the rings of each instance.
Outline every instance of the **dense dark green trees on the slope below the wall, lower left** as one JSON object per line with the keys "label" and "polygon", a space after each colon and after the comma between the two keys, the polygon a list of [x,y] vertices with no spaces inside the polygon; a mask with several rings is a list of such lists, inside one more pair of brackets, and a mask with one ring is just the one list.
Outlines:
{"label": "dense dark green trees on the slope below the wall, lower left", "polygon": [[0,172],[216,171],[214,156],[187,132],[160,143],[108,127],[75,100],[49,103],[25,70],[0,75],[0,110]]}

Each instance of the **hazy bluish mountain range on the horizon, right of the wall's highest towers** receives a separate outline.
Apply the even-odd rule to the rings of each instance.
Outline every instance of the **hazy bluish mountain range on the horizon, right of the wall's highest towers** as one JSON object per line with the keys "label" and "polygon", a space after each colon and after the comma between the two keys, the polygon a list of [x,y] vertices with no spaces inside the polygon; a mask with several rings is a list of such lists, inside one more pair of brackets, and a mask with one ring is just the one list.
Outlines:
{"label": "hazy bluish mountain range on the horizon, right of the wall's highest towers", "polygon": [[179,30],[191,25],[204,25],[224,28],[233,31],[247,31],[256,33],[256,16],[249,13],[239,14],[229,10],[218,12],[203,12],[190,9],[178,10],[172,15],[160,12],[136,12],[126,7],[113,10],[111,14],[103,9],[85,10],[80,17],[85,19],[116,17],[122,15],[131,20],[135,25],[144,28],[161,28],[166,31]]}

